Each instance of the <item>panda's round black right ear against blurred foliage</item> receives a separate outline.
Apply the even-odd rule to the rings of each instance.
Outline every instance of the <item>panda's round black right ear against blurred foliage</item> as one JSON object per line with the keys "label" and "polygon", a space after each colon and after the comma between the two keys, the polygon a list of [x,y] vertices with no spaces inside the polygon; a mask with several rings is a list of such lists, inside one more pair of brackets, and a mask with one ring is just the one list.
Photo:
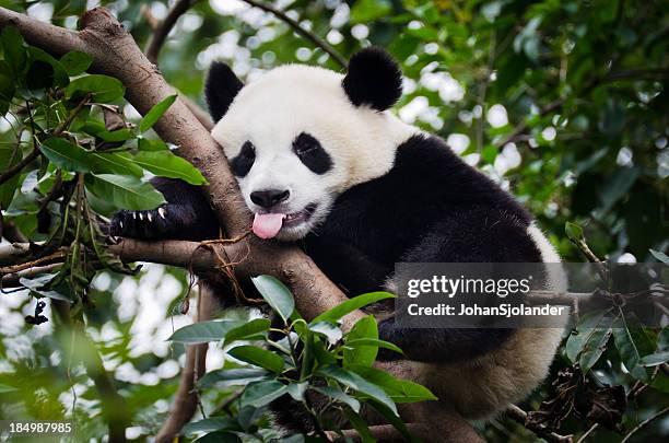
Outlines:
{"label": "panda's round black right ear against blurred foliage", "polygon": [[342,86],[353,105],[386,110],[402,95],[402,72],[384,49],[368,47],[351,57]]}

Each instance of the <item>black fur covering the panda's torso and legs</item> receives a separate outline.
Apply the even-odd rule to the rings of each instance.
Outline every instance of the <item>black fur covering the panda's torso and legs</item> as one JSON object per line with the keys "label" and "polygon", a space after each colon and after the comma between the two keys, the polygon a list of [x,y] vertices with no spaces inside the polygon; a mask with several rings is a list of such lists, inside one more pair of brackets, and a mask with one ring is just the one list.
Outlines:
{"label": "black fur covering the panda's torso and legs", "polygon": [[[152,225],[146,218],[139,221],[121,211],[111,222],[113,235],[218,236],[216,219],[199,189],[164,178],[154,185],[168,200],[167,220]],[[526,232],[530,222],[512,196],[463,163],[441,139],[415,136],[398,148],[388,174],[339,196],[326,222],[302,246],[353,296],[383,290],[400,261],[540,261],[541,254]],[[472,358],[495,349],[510,334],[512,329],[399,329],[391,317],[379,324],[382,339],[420,361]],[[396,358],[394,352],[379,351],[379,359]]]}

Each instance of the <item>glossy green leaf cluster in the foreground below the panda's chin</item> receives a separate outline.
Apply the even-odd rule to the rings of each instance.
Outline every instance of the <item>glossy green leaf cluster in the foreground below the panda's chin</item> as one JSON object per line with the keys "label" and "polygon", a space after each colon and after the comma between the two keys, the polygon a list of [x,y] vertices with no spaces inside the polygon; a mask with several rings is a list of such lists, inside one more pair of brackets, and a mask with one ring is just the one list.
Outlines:
{"label": "glossy green leaf cluster in the foreground below the panda's chin", "polygon": [[[340,317],[339,307],[322,314],[324,318],[333,318],[331,322],[314,319],[307,323],[294,312],[293,296],[279,280],[260,276],[254,279],[254,283],[277,313],[281,327],[270,327],[265,318],[246,324],[208,322],[186,326],[172,338],[188,339],[188,342],[222,341],[230,348],[227,355],[250,365],[248,369],[211,372],[199,383],[200,388],[212,388],[219,384],[245,386],[235,400],[239,415],[245,411],[245,416],[262,417],[272,401],[280,399],[280,409],[290,408],[292,413],[309,417],[315,423],[316,434],[325,438],[322,430],[327,429],[328,415],[333,411],[347,417],[351,427],[356,427],[364,423],[361,415],[363,404],[372,407],[380,405],[384,411],[389,410],[397,416],[396,403],[436,399],[423,386],[369,368],[379,347],[401,352],[396,346],[378,340],[374,317],[362,318],[351,331],[343,334],[336,323],[331,323]],[[379,293],[363,294],[352,299],[352,302],[362,307],[380,298]],[[237,327],[231,329],[235,324]],[[322,326],[326,324],[328,328]],[[192,337],[197,337],[195,341]],[[260,342],[236,342],[254,339]],[[356,349],[357,354],[350,353]],[[360,359],[353,360],[352,355],[360,355]],[[363,364],[355,364],[359,361]],[[289,397],[294,400],[293,406],[289,405]],[[234,420],[234,417],[209,417],[189,424],[184,431],[208,432],[201,439],[207,435],[213,439],[221,432],[251,438],[248,435],[249,428],[243,427],[239,419]],[[406,432],[406,429],[401,428],[401,431]]]}

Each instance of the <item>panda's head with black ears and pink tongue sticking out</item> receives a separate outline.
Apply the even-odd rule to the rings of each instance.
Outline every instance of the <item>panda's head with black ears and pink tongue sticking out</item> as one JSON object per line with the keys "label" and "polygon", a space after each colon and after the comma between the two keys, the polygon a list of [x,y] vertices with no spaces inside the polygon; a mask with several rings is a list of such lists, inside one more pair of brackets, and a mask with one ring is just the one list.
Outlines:
{"label": "panda's head with black ears and pink tongue sticking out", "polygon": [[385,51],[364,49],[348,73],[289,65],[244,85],[214,62],[207,102],[261,237],[293,241],[322,222],[339,194],[387,173],[413,128],[387,113],[401,72]]}

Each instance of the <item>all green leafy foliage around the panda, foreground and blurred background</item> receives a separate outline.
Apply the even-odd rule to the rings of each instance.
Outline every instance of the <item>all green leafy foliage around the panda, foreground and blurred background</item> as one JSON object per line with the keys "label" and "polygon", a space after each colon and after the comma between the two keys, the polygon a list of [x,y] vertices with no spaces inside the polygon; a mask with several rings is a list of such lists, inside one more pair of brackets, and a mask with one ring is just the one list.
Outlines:
{"label": "all green leafy foliage around the panda, foreground and blurred background", "polygon": [[[70,28],[86,8],[64,0],[0,4]],[[168,7],[163,0],[102,4],[140,47],[152,34],[149,13],[160,19]],[[247,81],[285,62],[341,70],[282,21],[232,4],[195,2],[161,54],[161,71],[189,98],[203,105],[203,72],[213,58],[230,62]],[[400,118],[443,136],[466,161],[509,187],[566,260],[582,259],[587,238],[586,246],[610,261],[669,261],[669,39],[662,2],[297,0],[282,5],[344,57],[368,44],[387,48],[406,75]],[[202,377],[203,408],[216,410],[240,386],[251,390],[228,407],[232,413],[219,410],[186,427],[188,436],[275,436],[261,413],[266,406],[242,403],[259,405],[278,392],[301,404],[316,393],[330,398],[361,435],[368,435],[359,416],[362,405],[402,428],[378,395],[395,404],[426,393],[372,369],[379,347],[392,349],[377,341],[373,318],[361,319],[348,334],[337,325],[348,312],[386,294],[353,299],[307,324],[290,294],[260,277],[269,304],[285,322],[275,331],[283,337],[275,341],[282,349],[263,348],[282,355],[279,369],[277,359],[248,348],[269,340],[267,320],[228,312],[211,324],[175,331],[171,319],[177,327],[186,323],[177,312],[190,294],[187,273],[130,269],[106,253],[101,226],[114,210],[163,201],[148,184],[150,175],[204,184],[151,129],[174,96],[142,117],[125,102],[116,79],[87,73],[90,56],[72,51],[55,58],[26,45],[13,26],[0,32],[0,176],[27,160],[0,182],[2,235],[20,232],[34,243],[35,258],[67,255],[60,267],[19,280],[22,293],[2,294],[0,418],[73,417],[82,440],[106,432],[101,408],[107,399],[83,363],[72,359],[71,336],[56,327],[57,314],[48,305],[37,312],[36,299],[47,298],[68,302],[77,324],[85,320],[132,417],[131,439],[160,428],[177,387],[175,366],[184,345],[208,341],[251,363],[226,359]],[[40,316],[49,322],[35,327],[26,322]],[[297,364],[287,337],[302,347]],[[520,406],[535,409],[535,422],[560,433],[578,436],[600,423],[590,438],[619,440],[617,427],[633,429],[666,405],[668,351],[668,328],[641,328],[613,311],[607,318],[584,316],[561,348],[553,385]],[[219,365],[223,360],[213,350],[210,357]],[[377,386],[372,389],[377,397],[353,387],[368,390],[367,384]],[[666,429],[660,417],[638,438],[666,436]],[[491,441],[533,438],[504,417],[481,431]]]}

